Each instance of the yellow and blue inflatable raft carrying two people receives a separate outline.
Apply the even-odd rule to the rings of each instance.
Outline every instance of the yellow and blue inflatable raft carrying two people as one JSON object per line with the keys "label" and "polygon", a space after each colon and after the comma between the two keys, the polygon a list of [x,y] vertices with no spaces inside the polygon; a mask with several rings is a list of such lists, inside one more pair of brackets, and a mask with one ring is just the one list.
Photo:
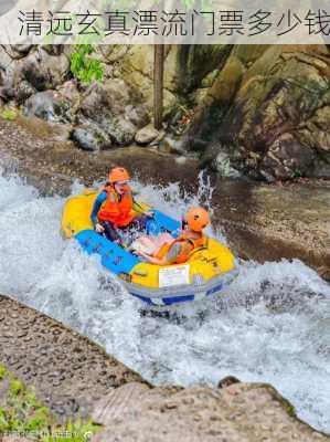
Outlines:
{"label": "yellow and blue inflatable raft carrying two people", "polygon": [[[206,245],[195,249],[187,263],[159,266],[113,243],[94,231],[91,212],[97,190],[85,190],[66,200],[62,214],[64,238],[74,238],[88,254],[97,253],[102,264],[117,275],[137,298],[150,306],[170,306],[219,294],[236,275],[234,255],[219,241],[207,238]],[[152,210],[147,229],[152,234],[180,232],[180,222],[139,203],[139,209]]]}

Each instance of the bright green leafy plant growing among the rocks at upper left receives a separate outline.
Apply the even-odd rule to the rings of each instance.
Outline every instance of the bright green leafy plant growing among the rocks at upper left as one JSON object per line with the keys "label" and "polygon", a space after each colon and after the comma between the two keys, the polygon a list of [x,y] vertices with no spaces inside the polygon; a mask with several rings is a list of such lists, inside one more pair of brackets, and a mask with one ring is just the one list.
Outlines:
{"label": "bright green leafy plant growing among the rocks at upper left", "polygon": [[102,81],[104,71],[98,60],[91,56],[95,52],[93,44],[76,44],[71,54],[71,72],[82,83]]}

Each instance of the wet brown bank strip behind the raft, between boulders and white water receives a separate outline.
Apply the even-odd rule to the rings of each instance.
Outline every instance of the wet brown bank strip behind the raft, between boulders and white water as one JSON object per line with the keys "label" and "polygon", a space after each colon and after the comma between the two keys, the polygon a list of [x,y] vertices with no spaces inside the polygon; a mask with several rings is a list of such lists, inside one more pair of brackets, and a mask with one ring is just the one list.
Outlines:
{"label": "wet brown bank strip behind the raft, between boulders and white water", "polygon": [[[179,181],[198,189],[196,160],[137,146],[88,155],[57,140],[57,126],[19,117],[0,119],[2,166],[26,177],[42,193],[68,194],[74,179],[85,186],[100,180],[109,167],[126,166],[142,182]],[[300,259],[330,277],[330,183],[269,186],[210,175],[213,224],[224,230],[234,252],[259,262]]]}

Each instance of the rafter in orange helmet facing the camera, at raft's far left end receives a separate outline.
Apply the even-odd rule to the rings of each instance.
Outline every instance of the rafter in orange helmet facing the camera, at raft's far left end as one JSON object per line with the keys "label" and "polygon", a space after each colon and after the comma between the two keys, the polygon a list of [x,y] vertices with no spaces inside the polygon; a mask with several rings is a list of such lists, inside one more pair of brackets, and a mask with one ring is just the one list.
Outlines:
{"label": "rafter in orange helmet facing the camera, at raft's far left end", "polygon": [[152,217],[152,212],[143,213],[134,201],[129,181],[124,167],[111,169],[91,214],[95,231],[116,243],[121,243],[123,234],[143,232],[147,219]]}

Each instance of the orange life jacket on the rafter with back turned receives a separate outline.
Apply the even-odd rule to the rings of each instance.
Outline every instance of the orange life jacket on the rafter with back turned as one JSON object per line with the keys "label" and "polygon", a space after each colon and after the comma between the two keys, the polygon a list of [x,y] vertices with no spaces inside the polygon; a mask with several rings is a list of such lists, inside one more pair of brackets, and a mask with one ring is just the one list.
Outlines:
{"label": "orange life jacket on the rafter with back turned", "polygon": [[163,244],[159,249],[159,251],[156,252],[156,254],[153,256],[161,260],[162,257],[164,257],[168,254],[170,249],[177,243],[179,243],[181,245],[181,248],[180,248],[181,251],[180,251],[180,254],[177,256],[175,261],[172,262],[172,264],[182,264],[189,260],[191,253],[194,250],[205,245],[206,239],[203,234],[201,234],[199,238],[193,238],[191,235],[191,233],[182,233],[177,240],[174,240],[170,243]]}

